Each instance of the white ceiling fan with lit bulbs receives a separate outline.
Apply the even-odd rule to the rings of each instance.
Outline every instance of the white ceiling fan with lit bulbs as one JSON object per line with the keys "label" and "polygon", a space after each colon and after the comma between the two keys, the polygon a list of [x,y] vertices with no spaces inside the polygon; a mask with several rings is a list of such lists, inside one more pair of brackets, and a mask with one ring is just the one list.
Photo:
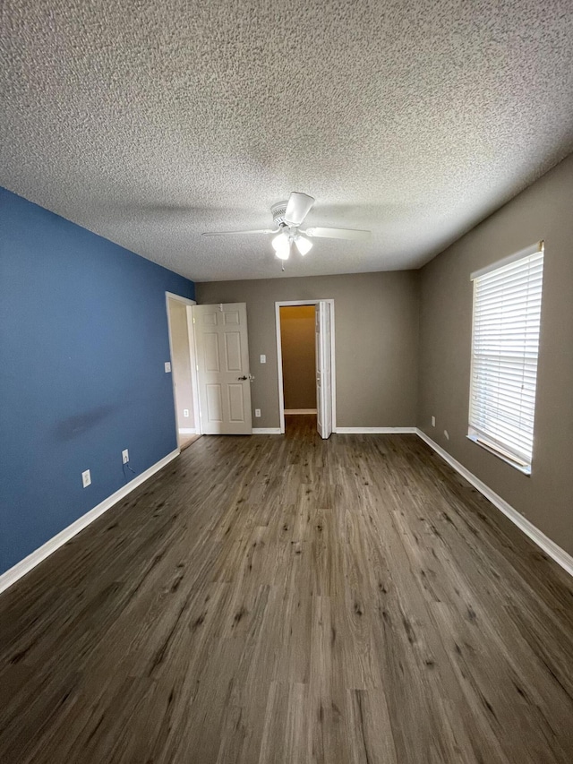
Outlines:
{"label": "white ceiling fan with lit bulbs", "polygon": [[350,239],[363,241],[371,236],[371,231],[359,231],[355,228],[310,227],[301,230],[304,218],[314,204],[312,196],[293,191],[288,202],[278,202],[270,208],[274,228],[260,228],[253,231],[208,231],[203,236],[235,236],[235,234],[276,234],[271,244],[280,260],[288,260],[293,245],[301,254],[306,254],[312,247],[311,238]]}

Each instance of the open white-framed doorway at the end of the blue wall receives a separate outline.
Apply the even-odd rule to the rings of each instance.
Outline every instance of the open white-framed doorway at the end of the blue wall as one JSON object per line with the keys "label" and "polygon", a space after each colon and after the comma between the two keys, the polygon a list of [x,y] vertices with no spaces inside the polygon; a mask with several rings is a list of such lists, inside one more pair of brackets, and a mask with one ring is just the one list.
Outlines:
{"label": "open white-framed doorway at the end of the blue wall", "polygon": [[166,301],[177,445],[183,451],[201,434],[192,331],[192,305],[196,303],[170,292]]}

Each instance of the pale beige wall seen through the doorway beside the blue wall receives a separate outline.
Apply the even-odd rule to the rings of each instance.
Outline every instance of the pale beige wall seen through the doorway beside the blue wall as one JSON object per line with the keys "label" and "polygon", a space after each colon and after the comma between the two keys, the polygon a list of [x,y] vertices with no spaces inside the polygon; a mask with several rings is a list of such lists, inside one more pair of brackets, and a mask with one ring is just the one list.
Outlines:
{"label": "pale beige wall seen through the doorway beside the blue wall", "polygon": [[[169,326],[171,330],[171,373],[175,383],[175,412],[177,427],[193,428],[193,392],[189,335],[187,330],[187,307],[178,300],[168,300]],[[184,416],[184,408],[189,416]]]}

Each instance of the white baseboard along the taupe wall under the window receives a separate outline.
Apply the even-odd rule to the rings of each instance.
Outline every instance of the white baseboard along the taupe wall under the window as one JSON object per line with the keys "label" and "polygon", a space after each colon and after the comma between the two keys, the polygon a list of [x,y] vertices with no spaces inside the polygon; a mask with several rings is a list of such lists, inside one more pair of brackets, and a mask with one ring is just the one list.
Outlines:
{"label": "white baseboard along the taupe wall under the window", "polygon": [[537,526],[535,526],[530,520],[526,519],[511,504],[502,499],[499,494],[496,494],[490,487],[485,485],[479,477],[476,477],[469,469],[466,469],[458,459],[454,459],[448,451],[445,451],[438,445],[438,443],[432,441],[429,435],[423,433],[422,430],[416,430],[417,434],[422,438],[423,442],[426,442],[430,448],[436,451],[444,461],[447,461],[450,467],[453,467],[462,477],[465,477],[468,483],[471,483],[480,494],[483,494],[486,499],[489,499],[492,504],[498,508],[503,514],[508,517],[511,522],[517,525],[517,528],[522,530],[526,536],[531,538],[545,554],[548,554],[555,562],[557,562],[564,571],[567,571],[570,576],[573,576],[573,557],[568,554],[564,549],[548,536],[545,536]]}

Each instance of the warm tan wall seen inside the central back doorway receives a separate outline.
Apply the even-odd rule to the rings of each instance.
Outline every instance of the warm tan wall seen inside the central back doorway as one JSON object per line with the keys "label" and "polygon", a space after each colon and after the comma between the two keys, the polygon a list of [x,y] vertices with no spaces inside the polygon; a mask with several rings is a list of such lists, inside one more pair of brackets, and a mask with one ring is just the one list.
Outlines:
{"label": "warm tan wall seen inside the central back doorway", "polygon": [[316,408],[314,305],[280,309],[285,408]]}

